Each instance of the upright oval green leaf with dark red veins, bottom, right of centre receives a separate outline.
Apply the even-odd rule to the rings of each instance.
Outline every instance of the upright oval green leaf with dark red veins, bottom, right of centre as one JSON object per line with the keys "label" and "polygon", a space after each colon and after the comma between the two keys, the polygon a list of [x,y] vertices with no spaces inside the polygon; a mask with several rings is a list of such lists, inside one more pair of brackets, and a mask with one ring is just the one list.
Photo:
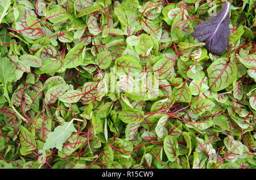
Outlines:
{"label": "upright oval green leaf with dark red veins, bottom, right of centre", "polygon": [[174,162],[179,156],[179,149],[177,148],[177,139],[174,136],[166,136],[164,138],[164,152],[169,161]]}

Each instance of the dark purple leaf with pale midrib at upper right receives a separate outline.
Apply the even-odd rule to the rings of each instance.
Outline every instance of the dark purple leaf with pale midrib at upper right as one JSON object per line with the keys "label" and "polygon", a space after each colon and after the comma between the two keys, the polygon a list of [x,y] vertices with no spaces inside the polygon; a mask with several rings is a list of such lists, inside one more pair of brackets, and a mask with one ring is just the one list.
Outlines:
{"label": "dark purple leaf with pale midrib at upper right", "polygon": [[205,48],[209,52],[222,55],[229,45],[229,9],[230,3],[224,3],[222,10],[216,16],[212,16],[205,22],[197,24],[192,36],[200,42],[205,42]]}

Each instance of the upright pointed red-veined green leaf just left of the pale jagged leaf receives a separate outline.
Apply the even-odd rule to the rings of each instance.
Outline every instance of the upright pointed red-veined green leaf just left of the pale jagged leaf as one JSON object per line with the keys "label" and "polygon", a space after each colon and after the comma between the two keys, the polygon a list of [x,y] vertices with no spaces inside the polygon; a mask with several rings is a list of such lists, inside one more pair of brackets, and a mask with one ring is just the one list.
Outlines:
{"label": "upright pointed red-veined green leaf just left of the pale jagged leaf", "polygon": [[20,126],[19,138],[21,144],[20,152],[23,155],[27,155],[28,153],[31,153],[32,150],[36,149],[35,137],[24,126]]}

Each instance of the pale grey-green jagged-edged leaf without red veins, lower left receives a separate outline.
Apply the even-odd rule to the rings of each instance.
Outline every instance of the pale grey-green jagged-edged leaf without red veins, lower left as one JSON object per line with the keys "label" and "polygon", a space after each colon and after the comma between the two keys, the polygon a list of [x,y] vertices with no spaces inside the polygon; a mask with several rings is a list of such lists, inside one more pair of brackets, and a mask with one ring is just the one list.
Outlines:
{"label": "pale grey-green jagged-edged leaf without red veins, lower left", "polygon": [[63,143],[71,136],[72,132],[77,132],[73,120],[57,126],[53,132],[49,132],[46,143],[44,143],[44,149],[57,148],[61,151]]}

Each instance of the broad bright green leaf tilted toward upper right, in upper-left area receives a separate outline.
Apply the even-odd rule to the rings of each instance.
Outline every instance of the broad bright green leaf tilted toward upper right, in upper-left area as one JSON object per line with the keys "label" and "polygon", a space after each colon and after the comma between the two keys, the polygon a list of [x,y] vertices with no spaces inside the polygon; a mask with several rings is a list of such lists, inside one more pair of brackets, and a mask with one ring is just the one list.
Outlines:
{"label": "broad bright green leaf tilted toward upper right, in upper-left area", "polygon": [[85,56],[85,44],[80,43],[74,48],[69,50],[68,54],[63,59],[65,68],[73,68],[82,64],[82,60]]}

